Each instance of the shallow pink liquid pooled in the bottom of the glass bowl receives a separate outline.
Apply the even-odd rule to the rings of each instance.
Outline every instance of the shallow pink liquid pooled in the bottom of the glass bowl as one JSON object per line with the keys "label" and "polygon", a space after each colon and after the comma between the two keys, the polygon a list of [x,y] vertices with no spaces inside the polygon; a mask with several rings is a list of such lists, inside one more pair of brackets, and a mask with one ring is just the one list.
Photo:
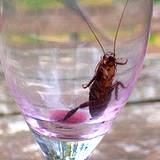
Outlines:
{"label": "shallow pink liquid pooled in the bottom of the glass bowl", "polygon": [[86,140],[101,136],[109,131],[112,120],[100,119],[90,120],[86,111],[77,111],[65,122],[61,121],[68,110],[52,110],[49,118],[32,117],[25,115],[26,122],[34,132],[58,139]]}

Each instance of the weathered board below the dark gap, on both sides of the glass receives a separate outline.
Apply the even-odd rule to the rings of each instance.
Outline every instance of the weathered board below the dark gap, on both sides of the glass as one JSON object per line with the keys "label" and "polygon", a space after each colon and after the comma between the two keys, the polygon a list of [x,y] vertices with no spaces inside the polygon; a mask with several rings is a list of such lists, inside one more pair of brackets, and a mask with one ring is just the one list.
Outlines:
{"label": "weathered board below the dark gap, on both sides of the glass", "polygon": [[[159,160],[160,103],[129,105],[94,151],[92,160]],[[0,160],[42,160],[23,118],[0,118]]]}

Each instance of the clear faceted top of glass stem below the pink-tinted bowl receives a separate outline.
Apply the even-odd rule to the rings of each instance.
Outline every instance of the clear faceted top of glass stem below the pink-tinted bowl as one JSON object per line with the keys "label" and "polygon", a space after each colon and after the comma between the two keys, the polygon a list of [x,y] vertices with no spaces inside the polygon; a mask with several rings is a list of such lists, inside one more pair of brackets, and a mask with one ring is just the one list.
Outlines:
{"label": "clear faceted top of glass stem below the pink-tinted bowl", "polygon": [[45,160],[89,160],[92,151],[103,136],[87,140],[52,139],[32,133],[38,142]]}

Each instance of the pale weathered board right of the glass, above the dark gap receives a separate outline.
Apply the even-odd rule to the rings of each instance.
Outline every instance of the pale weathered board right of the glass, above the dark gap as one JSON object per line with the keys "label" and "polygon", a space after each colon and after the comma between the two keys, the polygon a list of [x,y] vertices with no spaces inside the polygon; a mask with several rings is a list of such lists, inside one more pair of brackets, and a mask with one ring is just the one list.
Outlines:
{"label": "pale weathered board right of the glass, above the dark gap", "polygon": [[147,55],[129,102],[160,101],[160,54]]}

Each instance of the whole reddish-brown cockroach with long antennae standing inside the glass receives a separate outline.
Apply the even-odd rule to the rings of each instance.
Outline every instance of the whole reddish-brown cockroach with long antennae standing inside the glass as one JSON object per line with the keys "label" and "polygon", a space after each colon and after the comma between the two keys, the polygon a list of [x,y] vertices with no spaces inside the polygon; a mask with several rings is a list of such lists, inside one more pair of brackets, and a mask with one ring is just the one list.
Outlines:
{"label": "whole reddish-brown cockroach with long antennae standing inside the glass", "polygon": [[100,60],[100,62],[97,64],[97,67],[95,69],[95,75],[90,80],[90,82],[87,85],[82,85],[84,89],[89,87],[89,101],[82,103],[75,109],[72,109],[69,111],[65,117],[63,118],[63,121],[69,119],[78,109],[89,107],[89,112],[91,114],[91,117],[94,118],[96,116],[101,115],[104,110],[107,108],[110,100],[112,92],[115,90],[115,98],[118,100],[118,89],[119,86],[122,88],[125,88],[122,82],[120,81],[114,81],[117,65],[125,65],[127,64],[127,59],[122,61],[122,58],[116,58],[116,41],[120,29],[120,25],[122,22],[122,18],[125,13],[125,9],[127,7],[128,1],[126,1],[125,7],[123,9],[122,15],[120,17],[117,31],[114,38],[114,46],[113,46],[113,52],[105,52],[101,42],[99,41],[99,38],[97,37],[96,33],[91,27],[91,24],[88,22],[88,20],[83,16],[83,19],[87,23],[88,27],[90,28],[91,32],[93,33],[96,41],[100,45],[103,56]]}

